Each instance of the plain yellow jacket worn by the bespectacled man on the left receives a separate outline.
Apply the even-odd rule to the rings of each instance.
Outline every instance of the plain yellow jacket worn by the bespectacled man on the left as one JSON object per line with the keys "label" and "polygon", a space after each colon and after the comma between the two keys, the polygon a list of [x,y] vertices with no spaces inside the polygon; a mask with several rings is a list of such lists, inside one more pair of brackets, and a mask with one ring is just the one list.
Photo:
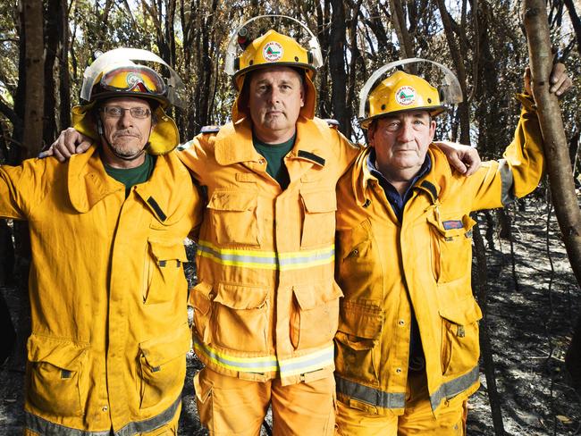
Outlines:
{"label": "plain yellow jacket worn by the bespectacled man on the left", "polygon": [[27,429],[133,435],[177,413],[198,203],[174,152],[127,199],[95,147],[0,167],[0,216],[29,222],[32,249]]}

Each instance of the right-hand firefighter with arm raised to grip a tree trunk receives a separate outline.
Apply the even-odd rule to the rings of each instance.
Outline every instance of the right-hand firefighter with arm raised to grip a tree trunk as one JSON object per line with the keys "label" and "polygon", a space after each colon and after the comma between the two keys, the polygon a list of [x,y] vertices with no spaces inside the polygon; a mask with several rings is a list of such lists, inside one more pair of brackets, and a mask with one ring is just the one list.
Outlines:
{"label": "right-hand firefighter with arm raised to grip a tree trunk", "polygon": [[[361,95],[370,147],[337,186],[337,281],[345,295],[335,336],[339,434],[462,435],[467,398],[479,386],[482,316],[470,287],[469,214],[537,186],[535,105],[526,81],[504,158],[464,178],[432,144],[442,98],[461,97],[451,71],[444,68],[441,88],[396,71],[367,98],[379,75]],[[553,83],[558,93],[570,86],[562,65]]]}

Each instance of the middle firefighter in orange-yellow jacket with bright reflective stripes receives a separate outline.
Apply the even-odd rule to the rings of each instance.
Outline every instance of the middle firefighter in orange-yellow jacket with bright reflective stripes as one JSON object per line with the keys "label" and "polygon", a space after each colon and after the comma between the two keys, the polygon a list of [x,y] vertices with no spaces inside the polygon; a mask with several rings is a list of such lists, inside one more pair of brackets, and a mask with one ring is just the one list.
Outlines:
{"label": "middle firefighter in orange-yellow jacket with bright reflective stripes", "polygon": [[332,435],[335,184],[356,148],[314,116],[318,47],[274,29],[242,46],[232,122],[180,147],[208,198],[189,298],[198,413],[210,434],[254,436],[270,405],[274,434]]}

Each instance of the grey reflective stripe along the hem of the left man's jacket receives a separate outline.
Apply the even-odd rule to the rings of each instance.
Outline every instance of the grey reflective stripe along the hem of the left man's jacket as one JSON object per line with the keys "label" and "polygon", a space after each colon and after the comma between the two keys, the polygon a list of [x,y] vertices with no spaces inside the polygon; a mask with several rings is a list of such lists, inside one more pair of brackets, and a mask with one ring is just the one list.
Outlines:
{"label": "grey reflective stripe along the hem of the left man's jacket", "polygon": [[[180,407],[180,404],[181,397],[178,397],[173,402],[173,405],[165,409],[161,414],[143,421],[128,423],[121,430],[114,432],[113,434],[114,436],[133,436],[142,432],[153,432],[172,421]],[[46,421],[46,419],[37,415],[32,415],[29,412],[25,412],[25,415],[26,428],[32,432],[42,434],[43,436],[110,436],[112,434],[110,430],[106,430],[105,432],[87,432],[84,430],[73,429],[71,427],[65,427],[58,423]]]}

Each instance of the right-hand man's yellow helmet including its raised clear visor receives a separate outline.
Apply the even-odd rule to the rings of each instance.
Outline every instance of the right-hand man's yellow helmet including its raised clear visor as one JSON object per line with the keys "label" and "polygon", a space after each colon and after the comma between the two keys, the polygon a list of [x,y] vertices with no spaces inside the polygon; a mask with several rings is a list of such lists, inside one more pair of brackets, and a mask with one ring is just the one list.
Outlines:
{"label": "right-hand man's yellow helmet including its raised clear visor", "polygon": [[[375,85],[381,75],[390,69],[408,63],[434,64],[442,71],[442,86],[434,88],[426,80],[404,71],[395,71],[387,79]],[[376,118],[392,113],[425,110],[432,116],[446,110],[444,104],[454,104],[462,101],[462,93],[456,76],[440,63],[425,59],[411,58],[384,65],[367,80],[360,93],[359,118],[360,125],[367,129]]]}

